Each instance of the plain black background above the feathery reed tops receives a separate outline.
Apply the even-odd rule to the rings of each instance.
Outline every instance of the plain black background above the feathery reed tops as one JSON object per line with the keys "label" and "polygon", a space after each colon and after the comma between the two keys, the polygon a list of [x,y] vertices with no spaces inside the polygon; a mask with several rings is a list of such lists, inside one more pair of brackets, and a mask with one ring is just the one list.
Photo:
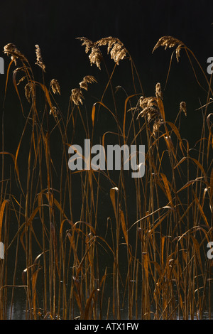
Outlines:
{"label": "plain black background above the feathery reed tops", "polygon": [[[146,96],[151,96],[156,82],[165,86],[172,53],[171,49],[165,51],[163,48],[152,53],[155,43],[162,36],[173,36],[185,43],[207,74],[207,58],[213,56],[212,15],[212,1],[1,1],[0,55],[4,57],[6,72],[9,58],[3,53],[4,45],[15,44],[31,65],[35,64],[35,44],[40,45],[47,81],[53,77],[58,79],[62,91],[60,103],[66,107],[72,88],[77,87],[84,75],[94,75],[99,79],[99,70],[95,66],[90,67],[88,56],[76,38],[85,36],[97,41],[103,37],[117,37],[136,63]],[[202,82],[201,72],[194,65]],[[39,71],[36,65],[35,71]],[[117,75],[125,81],[124,71]],[[6,75],[1,75],[1,105],[5,80]],[[128,82],[125,82],[124,88],[132,93]],[[201,122],[200,112],[195,112],[195,109],[206,102],[206,94],[202,95],[202,92],[182,50],[180,63],[173,58],[164,93],[165,112],[168,118],[174,120],[180,102],[187,102],[188,117],[184,120],[182,131],[183,136],[190,131],[192,140],[196,139]],[[11,118],[16,117],[13,122],[16,127],[19,124],[17,102],[16,98],[13,101],[8,98],[5,104]],[[16,131],[16,127],[11,131]]]}

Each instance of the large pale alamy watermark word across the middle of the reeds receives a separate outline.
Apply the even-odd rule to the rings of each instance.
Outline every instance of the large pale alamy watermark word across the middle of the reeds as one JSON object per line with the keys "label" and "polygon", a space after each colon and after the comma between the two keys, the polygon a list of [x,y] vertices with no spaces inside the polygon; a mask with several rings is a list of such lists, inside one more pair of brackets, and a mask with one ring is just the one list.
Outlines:
{"label": "large pale alamy watermark word across the middle of the reeds", "polygon": [[145,146],[136,145],[130,147],[126,144],[107,145],[107,151],[102,145],[94,145],[91,147],[90,139],[84,139],[84,150],[80,145],[72,145],[68,149],[68,153],[72,154],[68,161],[71,171],[81,171],[93,169],[95,171],[121,170],[121,161],[123,161],[124,171],[131,168],[132,178],[141,178],[145,173]]}

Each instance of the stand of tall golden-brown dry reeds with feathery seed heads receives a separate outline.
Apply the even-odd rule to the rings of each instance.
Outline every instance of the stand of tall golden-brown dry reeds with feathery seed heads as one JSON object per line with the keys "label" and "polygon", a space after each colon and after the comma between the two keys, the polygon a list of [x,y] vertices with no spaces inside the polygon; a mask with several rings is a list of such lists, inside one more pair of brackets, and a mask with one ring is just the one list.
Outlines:
{"label": "stand of tall golden-brown dry reeds with feathery seed heads", "polygon": [[[18,298],[25,298],[27,319],[211,318],[212,77],[208,80],[181,41],[165,36],[155,45],[153,50],[175,48],[177,60],[182,49],[199,85],[195,65],[204,77],[200,140],[190,148],[180,134],[185,102],[173,106],[177,117],[168,121],[160,83],[153,97],[145,96],[133,59],[118,38],[79,39],[105,84],[94,101],[89,90],[102,83],[92,75],[80,78],[67,111],[57,102],[58,81],[45,82],[39,46],[41,80],[15,45],[4,48],[11,62],[1,136],[0,239],[5,254],[0,260],[0,318],[16,318]],[[114,64],[110,70],[104,46]],[[130,68],[130,95],[114,87],[120,62]],[[11,71],[20,102],[16,112],[20,109],[23,119],[13,152],[4,149]],[[123,168],[70,171],[68,147],[84,139],[105,147],[144,144],[145,175],[131,178]]]}

